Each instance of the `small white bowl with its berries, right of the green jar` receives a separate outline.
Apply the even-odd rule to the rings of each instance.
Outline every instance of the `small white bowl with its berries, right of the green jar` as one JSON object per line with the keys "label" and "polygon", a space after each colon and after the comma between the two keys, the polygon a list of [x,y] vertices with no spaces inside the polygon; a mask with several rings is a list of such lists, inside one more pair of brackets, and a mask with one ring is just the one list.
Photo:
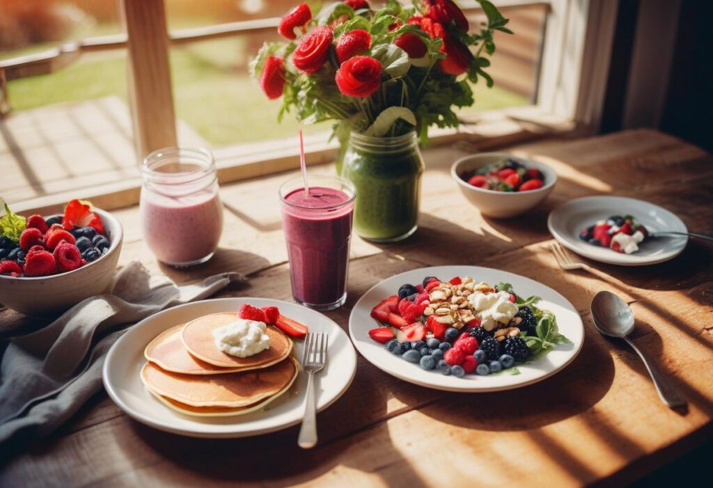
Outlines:
{"label": "small white bowl with its berries, right of the green jar", "polygon": [[451,166],[451,176],[481,214],[501,219],[533,209],[557,182],[557,174],[547,165],[506,152],[462,157]]}

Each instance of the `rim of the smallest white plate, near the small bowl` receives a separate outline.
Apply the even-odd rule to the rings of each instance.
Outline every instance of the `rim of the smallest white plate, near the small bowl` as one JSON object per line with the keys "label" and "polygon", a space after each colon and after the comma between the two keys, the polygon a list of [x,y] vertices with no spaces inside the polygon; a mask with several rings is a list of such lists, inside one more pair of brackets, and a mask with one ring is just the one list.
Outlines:
{"label": "rim of the smallest white plate, near the small bowl", "polygon": [[[594,199],[621,199],[621,200],[629,200],[632,202],[637,202],[639,204],[646,204],[649,205],[650,207],[655,207],[657,209],[662,209],[665,212],[668,212],[671,214],[675,219],[682,224],[683,228],[685,229],[685,232],[688,231],[688,227],[685,222],[679,217],[675,212],[672,212],[671,210],[667,209],[666,207],[662,207],[659,204],[655,204],[652,202],[649,202],[647,200],[642,200],[638,198],[632,198],[632,197],[620,197],[619,195],[590,195],[588,197],[579,197],[579,198],[573,198],[568,200],[567,202],[564,202],[563,204],[560,204],[558,207],[553,209],[550,214],[547,217],[547,228],[552,237],[555,239],[555,241],[559,242],[563,246],[565,246],[567,249],[570,251],[574,252],[575,254],[578,254],[578,256],[583,256],[587,259],[592,259],[593,261],[598,261],[600,263],[604,264],[613,264],[615,266],[650,266],[651,264],[660,264],[664,263],[666,261],[670,261],[671,259],[674,259],[675,257],[679,256],[683,251],[685,251],[686,247],[688,246],[688,237],[685,238],[685,242],[683,246],[681,246],[681,249],[678,249],[677,251],[665,251],[662,256],[656,256],[656,257],[651,257],[651,258],[643,258],[643,259],[638,259],[638,260],[627,260],[625,259],[615,259],[614,256],[612,256],[612,259],[607,259],[607,257],[600,257],[600,256],[593,256],[590,253],[583,253],[582,249],[578,248],[577,246],[571,244],[568,239],[565,239],[559,232],[557,232],[553,226],[553,221],[555,219],[555,214],[557,212],[563,212],[566,207],[572,206],[577,203],[581,203],[582,200],[594,200]],[[617,253],[618,254],[618,253]],[[625,255],[622,255],[625,256]],[[628,255],[626,255],[628,256]]]}

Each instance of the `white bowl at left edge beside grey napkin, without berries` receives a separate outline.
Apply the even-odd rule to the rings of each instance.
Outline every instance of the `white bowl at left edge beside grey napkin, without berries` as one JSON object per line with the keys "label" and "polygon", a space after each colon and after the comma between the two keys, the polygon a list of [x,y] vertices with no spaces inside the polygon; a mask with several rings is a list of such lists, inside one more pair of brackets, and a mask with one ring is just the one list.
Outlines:
{"label": "white bowl at left edge beside grey napkin, without berries", "polygon": [[101,217],[109,250],[81,268],[52,276],[15,278],[0,275],[0,303],[29,316],[46,316],[66,311],[90,296],[101,294],[119,261],[123,229],[109,212],[93,209]]}

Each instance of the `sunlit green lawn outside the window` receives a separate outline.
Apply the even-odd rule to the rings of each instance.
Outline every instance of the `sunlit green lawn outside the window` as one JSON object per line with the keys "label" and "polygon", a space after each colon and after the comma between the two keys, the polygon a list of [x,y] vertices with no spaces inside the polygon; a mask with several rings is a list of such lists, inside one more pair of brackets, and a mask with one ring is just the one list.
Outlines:
{"label": "sunlit green lawn outside the window", "polygon": [[[277,123],[280,103],[267,100],[247,76],[245,39],[193,43],[171,51],[176,112],[212,145],[229,145],[294,135],[297,122],[289,116]],[[126,100],[126,60],[123,51],[92,53],[56,73],[8,83],[14,111],[53,103],[116,95]],[[484,83],[474,87],[470,110],[525,105],[527,98]],[[307,128],[328,130],[329,123]]]}

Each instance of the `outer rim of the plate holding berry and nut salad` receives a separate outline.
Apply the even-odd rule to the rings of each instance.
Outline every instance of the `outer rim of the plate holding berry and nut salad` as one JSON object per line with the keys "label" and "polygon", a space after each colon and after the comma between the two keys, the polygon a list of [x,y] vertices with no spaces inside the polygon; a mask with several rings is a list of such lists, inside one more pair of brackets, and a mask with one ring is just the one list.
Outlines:
{"label": "outer rim of the plate holding berry and nut salad", "polygon": [[[463,385],[463,388],[457,388],[457,387],[451,387],[448,385],[433,385],[431,383],[421,382],[419,380],[414,380],[413,378],[406,377],[405,375],[401,375],[399,373],[394,373],[394,371],[392,371],[386,367],[382,367],[382,365],[372,361],[369,357],[367,357],[367,355],[364,354],[364,352],[362,352],[361,348],[359,348],[359,346],[358,346],[358,342],[356,341],[356,339],[354,337],[354,328],[352,326],[352,324],[355,321],[354,320],[354,311],[361,304],[361,301],[364,300],[364,298],[369,294],[369,292],[376,289],[377,286],[381,285],[387,279],[396,278],[398,276],[402,276],[406,273],[411,273],[413,271],[424,271],[426,273],[428,273],[428,272],[436,273],[436,271],[434,271],[434,270],[445,268],[445,267],[469,268],[469,269],[478,268],[478,269],[486,269],[488,271],[497,271],[498,273],[514,274],[515,276],[518,276],[519,278],[523,278],[528,281],[534,281],[535,284],[538,284],[539,286],[544,286],[545,288],[549,289],[554,294],[557,294],[558,296],[563,298],[563,300],[568,305],[568,307],[565,307],[565,308],[570,308],[570,311],[573,311],[579,318],[580,328],[582,329],[582,340],[580,341],[578,348],[576,348],[576,350],[573,351],[573,354],[570,356],[570,358],[568,358],[568,360],[565,361],[565,363],[563,363],[558,368],[555,368],[552,371],[548,371],[548,373],[546,373],[543,376],[540,376],[538,378],[533,378],[531,380],[526,380],[523,383],[516,383],[514,385],[493,386],[493,387],[486,387],[486,388],[482,388],[482,387],[481,388],[473,388],[472,386],[470,388],[468,388],[468,386],[465,384]],[[427,276],[427,275],[424,274],[424,276]],[[437,276],[437,275],[434,274],[434,276]],[[520,274],[516,274],[511,271],[505,271],[503,269],[496,269],[496,268],[488,268],[486,266],[473,266],[471,264],[463,264],[463,265],[461,265],[461,264],[443,264],[442,266],[426,266],[426,267],[422,267],[422,268],[409,269],[408,271],[403,271],[399,274],[394,274],[393,276],[389,276],[388,278],[382,279],[381,281],[379,281],[379,283],[374,284],[374,286],[371,286],[371,288],[369,288],[369,290],[365,291],[364,294],[362,294],[361,297],[359,297],[359,300],[357,300],[356,303],[354,303],[354,307],[352,307],[352,312],[349,313],[349,338],[352,340],[352,343],[354,343],[354,348],[356,348],[356,351],[358,351],[359,354],[361,354],[361,356],[365,360],[367,360],[371,365],[374,365],[379,370],[384,371],[384,373],[394,376],[395,378],[399,378],[399,380],[404,380],[407,383],[419,385],[424,388],[431,388],[433,390],[451,391],[451,392],[456,392],[456,393],[493,393],[493,392],[498,392],[498,391],[515,390],[518,388],[523,388],[525,386],[533,385],[535,383],[540,383],[540,381],[546,380],[547,378],[550,378],[551,376],[555,375],[556,373],[559,373],[561,370],[563,370],[568,365],[570,365],[573,362],[573,360],[575,360],[575,358],[577,358],[577,356],[582,351],[582,348],[584,346],[585,337],[586,337],[586,333],[585,333],[584,322],[582,320],[582,316],[580,316],[579,311],[572,304],[572,302],[570,302],[563,294],[560,294],[559,291],[557,291],[553,288],[550,288],[549,286],[539,284],[537,281],[535,281],[531,278],[528,278],[527,276],[522,276]]]}

